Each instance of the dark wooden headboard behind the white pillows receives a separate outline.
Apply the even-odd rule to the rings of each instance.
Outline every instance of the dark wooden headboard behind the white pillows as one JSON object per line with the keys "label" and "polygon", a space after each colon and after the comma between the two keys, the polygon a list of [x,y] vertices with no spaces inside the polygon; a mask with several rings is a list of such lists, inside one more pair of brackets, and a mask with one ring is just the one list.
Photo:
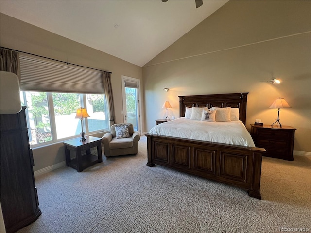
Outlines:
{"label": "dark wooden headboard behind the white pillows", "polygon": [[196,96],[179,96],[179,117],[185,116],[186,107],[231,107],[239,108],[240,120],[246,123],[246,103],[248,92],[230,93],[230,94],[213,94],[213,95],[196,95]]}

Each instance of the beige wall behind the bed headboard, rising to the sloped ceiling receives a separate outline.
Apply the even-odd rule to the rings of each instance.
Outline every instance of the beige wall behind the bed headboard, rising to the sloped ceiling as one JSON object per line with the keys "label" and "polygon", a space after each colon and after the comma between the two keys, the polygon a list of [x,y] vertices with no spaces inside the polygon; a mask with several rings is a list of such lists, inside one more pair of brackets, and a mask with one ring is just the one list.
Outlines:
{"label": "beige wall behind the bed headboard, rising to the sloped ceiling", "polygon": [[[229,1],[143,67],[146,131],[179,95],[249,92],[247,122],[295,127],[294,150],[311,152],[311,1]],[[279,78],[282,83],[265,81]],[[169,92],[163,90],[170,88]]]}

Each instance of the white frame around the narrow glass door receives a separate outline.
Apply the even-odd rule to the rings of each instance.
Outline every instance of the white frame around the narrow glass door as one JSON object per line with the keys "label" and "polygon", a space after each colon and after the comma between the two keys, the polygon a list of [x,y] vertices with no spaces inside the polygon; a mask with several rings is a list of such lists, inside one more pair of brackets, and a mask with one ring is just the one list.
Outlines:
{"label": "white frame around the narrow glass door", "polygon": [[126,116],[126,99],[125,99],[125,80],[136,82],[138,84],[137,88],[137,98],[138,98],[138,132],[141,134],[141,125],[142,125],[142,119],[141,119],[141,91],[140,91],[140,79],[128,77],[125,75],[121,75],[122,78],[122,113],[123,113],[123,122],[126,122],[125,116]]}

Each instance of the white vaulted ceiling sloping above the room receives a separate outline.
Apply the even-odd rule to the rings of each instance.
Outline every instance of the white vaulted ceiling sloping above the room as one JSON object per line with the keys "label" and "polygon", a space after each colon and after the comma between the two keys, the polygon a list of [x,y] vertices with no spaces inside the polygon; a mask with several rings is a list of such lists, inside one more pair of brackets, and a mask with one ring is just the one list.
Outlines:
{"label": "white vaulted ceiling sloping above the room", "polygon": [[143,66],[227,0],[14,0],[0,11]]}

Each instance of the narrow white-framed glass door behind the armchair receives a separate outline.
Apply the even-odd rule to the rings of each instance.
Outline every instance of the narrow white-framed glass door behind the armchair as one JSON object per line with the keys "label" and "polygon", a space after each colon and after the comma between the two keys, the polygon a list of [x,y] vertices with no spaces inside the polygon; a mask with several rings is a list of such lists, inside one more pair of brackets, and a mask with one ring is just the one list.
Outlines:
{"label": "narrow white-framed glass door behind the armchair", "polygon": [[124,123],[132,123],[134,131],[140,132],[140,80],[122,75],[122,98]]}

